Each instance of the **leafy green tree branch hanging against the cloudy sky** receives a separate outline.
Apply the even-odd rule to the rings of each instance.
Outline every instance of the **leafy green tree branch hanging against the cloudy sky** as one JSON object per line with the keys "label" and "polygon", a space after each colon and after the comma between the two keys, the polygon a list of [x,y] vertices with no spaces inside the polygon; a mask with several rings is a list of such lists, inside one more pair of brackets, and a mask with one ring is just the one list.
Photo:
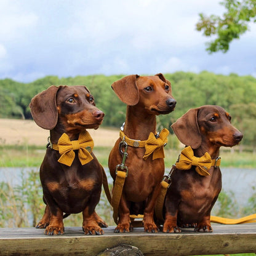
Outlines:
{"label": "leafy green tree branch hanging against the cloudy sky", "polygon": [[207,42],[206,50],[210,54],[219,50],[227,52],[230,42],[249,30],[250,22],[256,22],[255,0],[224,0],[220,4],[226,8],[222,17],[199,14],[200,20],[196,24],[196,30],[203,31],[204,36],[217,35],[217,39]]}

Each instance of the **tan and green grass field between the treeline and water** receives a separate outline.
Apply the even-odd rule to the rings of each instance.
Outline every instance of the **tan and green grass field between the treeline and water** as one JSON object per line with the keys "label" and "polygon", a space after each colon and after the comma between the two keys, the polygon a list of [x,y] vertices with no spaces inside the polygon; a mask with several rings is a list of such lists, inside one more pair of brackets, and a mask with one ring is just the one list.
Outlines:
{"label": "tan and green grass field between the treeline and water", "polygon": [[[89,132],[94,139],[94,153],[98,161],[103,166],[108,166],[108,155],[119,137],[119,129],[100,127],[98,130],[89,129]],[[0,119],[0,166],[40,166],[48,137],[49,130],[42,129],[32,120]],[[175,135],[169,135],[169,143],[165,149],[167,169],[175,163],[182,150],[182,145],[178,149],[171,148],[175,141]],[[254,154],[239,152],[238,146],[233,149],[231,151],[229,148],[222,148],[222,167],[256,168]]]}

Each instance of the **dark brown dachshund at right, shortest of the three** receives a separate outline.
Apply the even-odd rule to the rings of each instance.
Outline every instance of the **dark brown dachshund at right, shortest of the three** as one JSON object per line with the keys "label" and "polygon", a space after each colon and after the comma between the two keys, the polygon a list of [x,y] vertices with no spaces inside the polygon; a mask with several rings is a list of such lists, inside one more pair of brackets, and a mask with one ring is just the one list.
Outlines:
{"label": "dark brown dachshund at right, shortest of the three", "polygon": [[[182,226],[196,225],[194,231],[212,232],[210,212],[222,189],[218,167],[220,146],[237,145],[242,134],[232,126],[230,114],[214,105],[189,110],[172,124],[172,129],[180,142],[191,148],[183,150],[176,163],[177,169],[172,173],[172,184],[166,194],[163,231],[180,232]],[[196,158],[188,164],[189,153]],[[206,166],[207,157],[209,167]],[[196,167],[200,166],[200,161],[201,168]]]}

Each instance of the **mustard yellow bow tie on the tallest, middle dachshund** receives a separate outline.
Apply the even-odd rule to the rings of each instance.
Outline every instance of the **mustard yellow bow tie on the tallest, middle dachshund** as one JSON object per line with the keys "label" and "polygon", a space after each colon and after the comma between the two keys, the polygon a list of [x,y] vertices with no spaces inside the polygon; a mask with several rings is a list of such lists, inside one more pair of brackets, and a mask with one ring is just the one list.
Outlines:
{"label": "mustard yellow bow tie on the tallest, middle dachshund", "polygon": [[143,159],[147,159],[150,154],[153,153],[153,160],[157,158],[164,158],[164,145],[167,143],[167,136],[169,135],[169,130],[166,128],[162,129],[159,137],[156,138],[153,132],[150,132],[148,140],[145,142],[145,154]]}

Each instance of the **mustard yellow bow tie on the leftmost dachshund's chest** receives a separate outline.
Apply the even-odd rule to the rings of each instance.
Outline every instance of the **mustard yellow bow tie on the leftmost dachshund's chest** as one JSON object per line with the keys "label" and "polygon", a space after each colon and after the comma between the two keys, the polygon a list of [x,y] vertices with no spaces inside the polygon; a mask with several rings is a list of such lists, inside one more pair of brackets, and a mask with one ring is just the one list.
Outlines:
{"label": "mustard yellow bow tie on the leftmost dachshund's chest", "polygon": [[71,166],[73,163],[75,156],[74,150],[78,150],[78,158],[82,165],[94,159],[90,154],[94,148],[94,141],[87,131],[79,134],[78,140],[70,140],[67,134],[62,134],[58,139],[58,144],[53,144],[52,148],[58,150],[61,155],[58,162],[66,166]]}

